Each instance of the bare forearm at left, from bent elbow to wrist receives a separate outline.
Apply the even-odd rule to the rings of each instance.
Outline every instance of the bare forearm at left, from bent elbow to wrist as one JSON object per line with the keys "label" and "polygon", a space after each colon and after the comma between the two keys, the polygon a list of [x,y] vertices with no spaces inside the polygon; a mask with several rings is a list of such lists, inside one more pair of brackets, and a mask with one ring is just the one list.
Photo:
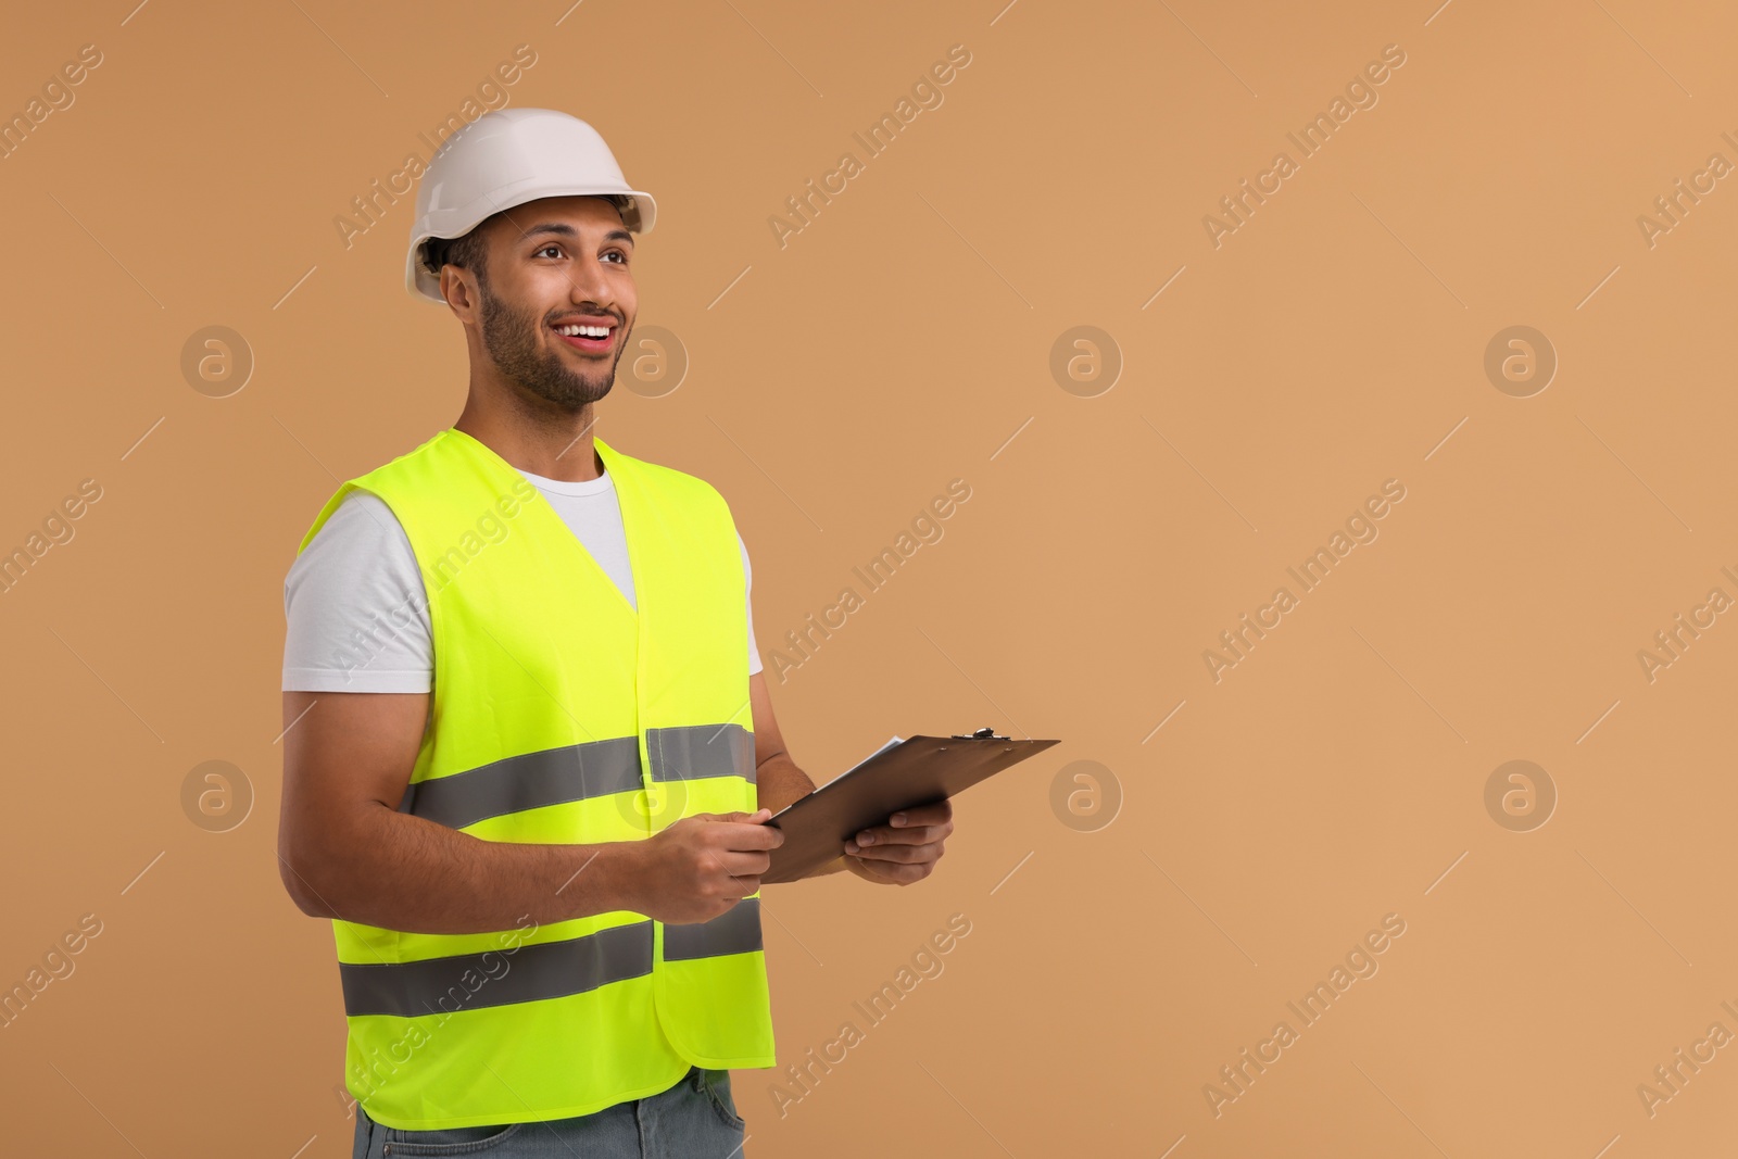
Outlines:
{"label": "bare forearm at left, from bent elbow to wrist", "polygon": [[384,805],[285,864],[304,912],[407,933],[492,933],[636,909],[641,841],[483,841]]}

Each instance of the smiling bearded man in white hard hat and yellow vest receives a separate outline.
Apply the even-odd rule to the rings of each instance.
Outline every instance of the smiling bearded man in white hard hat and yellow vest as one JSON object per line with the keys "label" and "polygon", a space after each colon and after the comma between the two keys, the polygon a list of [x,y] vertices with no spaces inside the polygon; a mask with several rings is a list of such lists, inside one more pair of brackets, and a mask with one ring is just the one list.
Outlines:
{"label": "smiling bearded man in white hard hat and yellow vest", "polygon": [[[464,410],[344,483],[285,582],[282,878],[337,938],[355,1154],[739,1154],[763,822],[813,782],[725,500],[593,434],[655,203],[584,122],[504,109],[417,215]],[[822,872],[909,884],[951,831],[907,810]]]}

